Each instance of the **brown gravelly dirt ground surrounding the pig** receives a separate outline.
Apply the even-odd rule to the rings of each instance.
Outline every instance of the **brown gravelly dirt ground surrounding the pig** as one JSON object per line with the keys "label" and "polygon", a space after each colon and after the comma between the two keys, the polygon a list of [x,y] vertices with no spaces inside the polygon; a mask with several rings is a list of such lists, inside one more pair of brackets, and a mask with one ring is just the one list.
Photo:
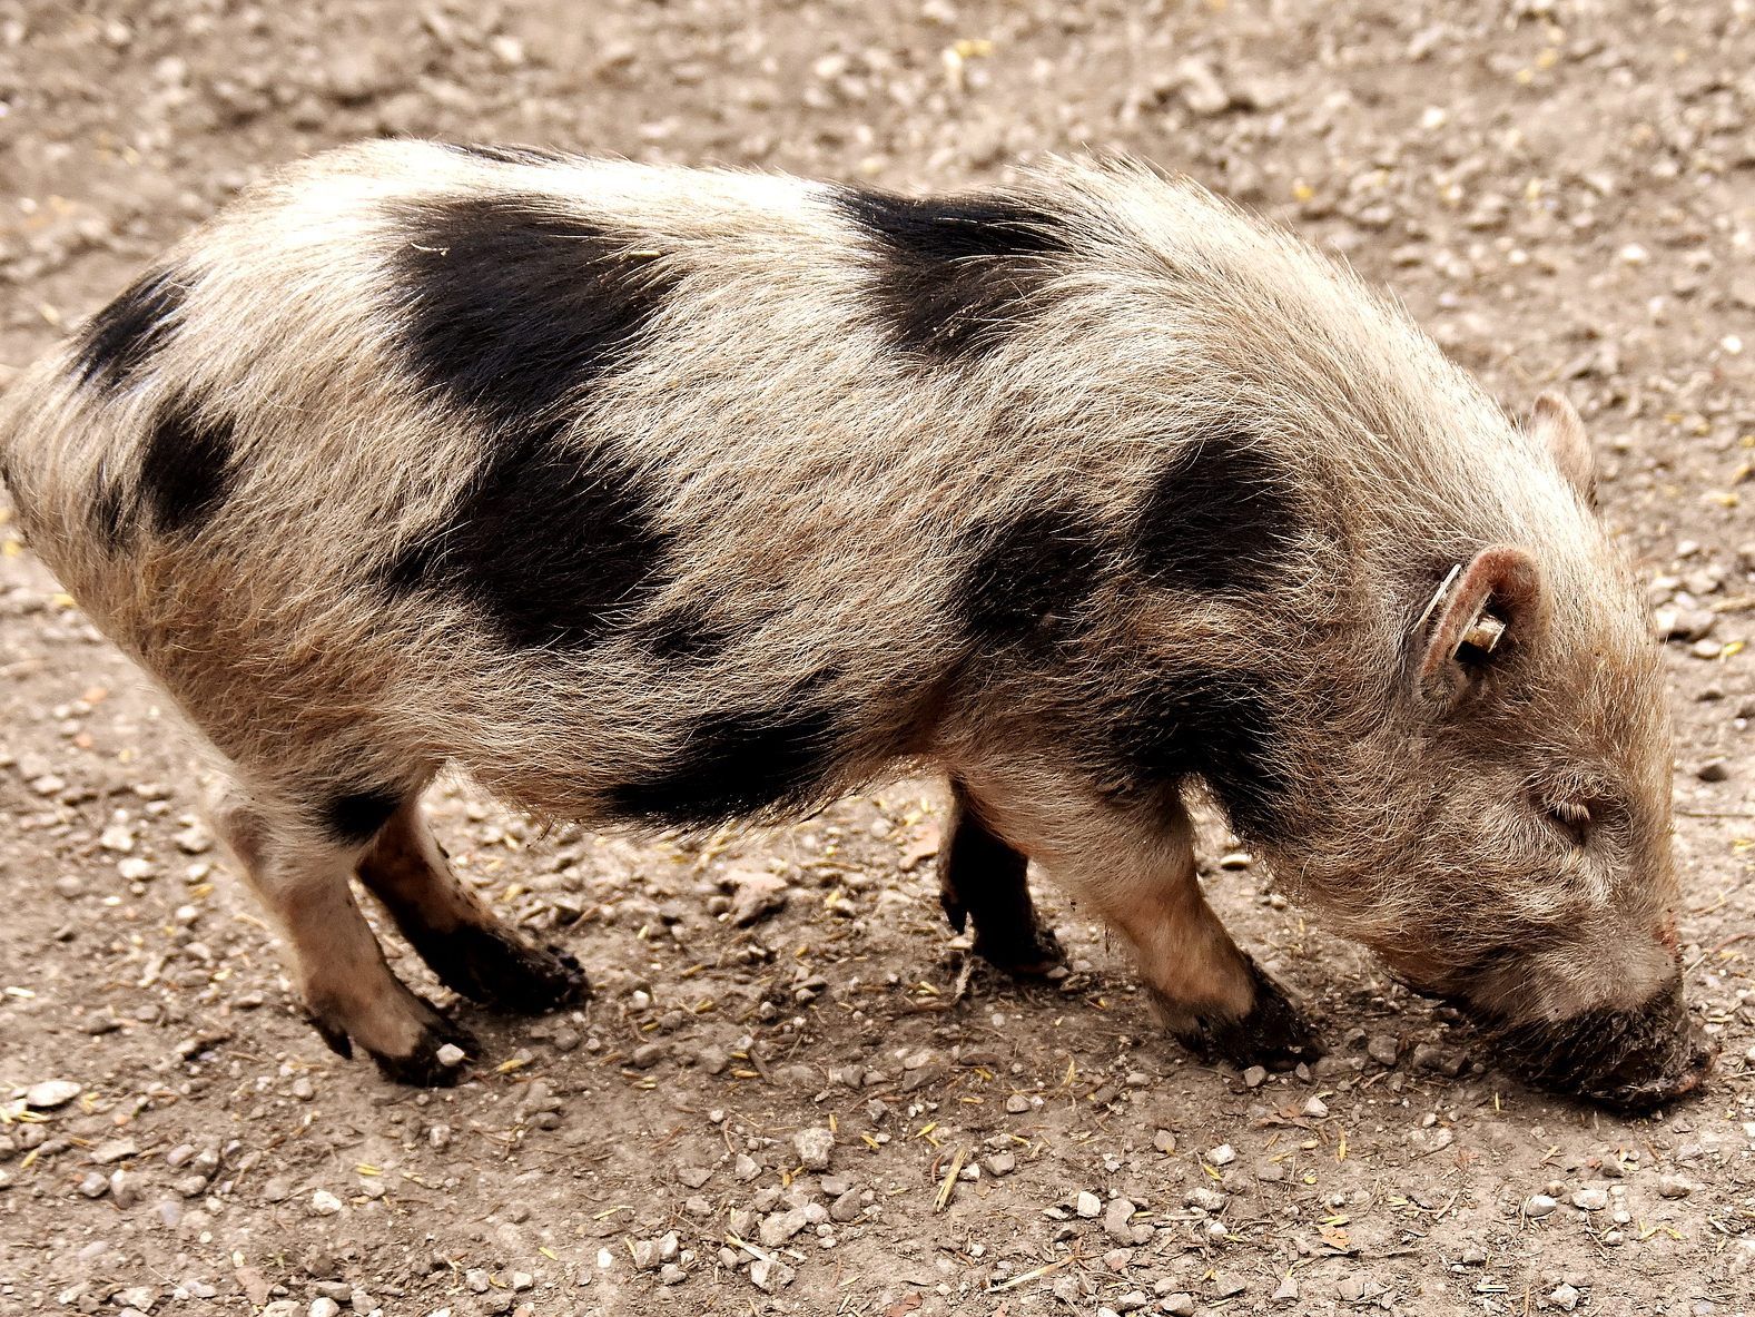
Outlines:
{"label": "brown gravelly dirt ground surrounding the pig", "polygon": [[1209,824],[1332,1048],[1251,1087],[1065,901],[1069,976],[958,997],[934,783],[658,845],[456,783],[456,862],[597,997],[465,1010],[469,1082],[390,1087],[298,1018],[168,718],[0,523],[0,1313],[1755,1310],[1751,9],[0,0],[0,381],[256,172],[416,133],[900,190],[1130,151],[1393,284],[1508,406],[1558,383],[1671,636],[1723,1047],[1651,1120],[1530,1094]]}

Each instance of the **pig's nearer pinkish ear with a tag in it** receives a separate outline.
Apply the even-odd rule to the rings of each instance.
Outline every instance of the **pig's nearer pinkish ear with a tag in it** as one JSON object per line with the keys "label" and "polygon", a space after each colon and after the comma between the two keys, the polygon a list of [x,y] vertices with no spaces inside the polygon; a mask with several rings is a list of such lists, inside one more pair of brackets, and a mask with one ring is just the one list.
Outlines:
{"label": "pig's nearer pinkish ear with a tag in it", "polygon": [[1546,625],[1541,567],[1511,544],[1494,544],[1453,567],[1415,629],[1420,688],[1450,708]]}

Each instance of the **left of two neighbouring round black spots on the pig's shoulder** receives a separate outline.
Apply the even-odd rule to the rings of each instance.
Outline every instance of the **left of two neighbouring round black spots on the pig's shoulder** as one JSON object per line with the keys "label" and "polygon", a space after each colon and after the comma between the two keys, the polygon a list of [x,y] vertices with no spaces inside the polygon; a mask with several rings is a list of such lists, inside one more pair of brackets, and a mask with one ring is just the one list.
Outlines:
{"label": "left of two neighbouring round black spots on the pig's shoulder", "polygon": [[953,608],[981,639],[1053,639],[1076,630],[1100,579],[1102,530],[1071,507],[1037,507],[978,532]]}

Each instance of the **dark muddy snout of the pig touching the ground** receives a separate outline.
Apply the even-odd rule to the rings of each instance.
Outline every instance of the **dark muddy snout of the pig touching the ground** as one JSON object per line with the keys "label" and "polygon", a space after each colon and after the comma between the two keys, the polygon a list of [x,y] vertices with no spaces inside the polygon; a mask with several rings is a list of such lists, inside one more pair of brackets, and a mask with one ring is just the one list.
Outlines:
{"label": "dark muddy snout of the pig touching the ground", "polygon": [[1620,1112],[1650,1112],[1701,1087],[1718,1048],[1688,1017],[1681,983],[1630,1011],[1492,1029],[1501,1059],[1541,1089]]}

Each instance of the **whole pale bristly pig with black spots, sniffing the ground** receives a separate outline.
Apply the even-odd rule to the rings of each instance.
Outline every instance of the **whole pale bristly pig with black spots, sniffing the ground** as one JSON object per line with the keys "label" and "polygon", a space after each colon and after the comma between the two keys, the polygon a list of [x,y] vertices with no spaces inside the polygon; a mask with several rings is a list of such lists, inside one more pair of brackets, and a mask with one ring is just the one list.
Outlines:
{"label": "whole pale bristly pig with black spots, sniffing the ground", "polygon": [[[462,994],[581,997],[448,871],[446,764],[591,824],[942,769],[944,906],[1057,954],[1027,857],[1192,1047],[1313,1036],[1200,896],[1204,783],[1279,882],[1525,1075],[1699,1082],[1655,644],[1576,413],[1186,183],[909,200],[539,151],[298,165],[9,393],[30,543],[218,752],[311,1015],[402,1080]],[[467,1047],[467,1043],[463,1043]]]}

